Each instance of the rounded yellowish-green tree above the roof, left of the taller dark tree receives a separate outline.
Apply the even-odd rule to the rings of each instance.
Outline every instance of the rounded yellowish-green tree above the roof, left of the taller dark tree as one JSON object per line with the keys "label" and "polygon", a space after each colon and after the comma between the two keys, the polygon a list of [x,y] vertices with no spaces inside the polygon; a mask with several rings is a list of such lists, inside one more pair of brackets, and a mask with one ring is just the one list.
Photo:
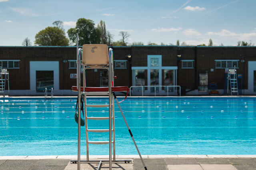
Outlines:
{"label": "rounded yellowish-green tree above the roof, left of the taller dark tree", "polygon": [[58,27],[46,27],[35,37],[35,44],[40,46],[68,46],[65,32]]}

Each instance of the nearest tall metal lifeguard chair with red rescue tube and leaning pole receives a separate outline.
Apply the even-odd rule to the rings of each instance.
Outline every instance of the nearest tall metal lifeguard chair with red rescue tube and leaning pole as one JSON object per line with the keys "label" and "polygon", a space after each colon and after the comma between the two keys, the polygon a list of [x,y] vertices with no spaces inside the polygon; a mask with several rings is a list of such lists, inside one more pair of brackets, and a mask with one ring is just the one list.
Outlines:
{"label": "nearest tall metal lifeguard chair with red rescue tube and leaning pole", "polygon": [[[112,169],[112,162],[130,162],[131,160],[116,160],[115,154],[115,119],[114,119],[114,99],[116,100],[118,107],[122,113],[126,126],[128,127],[128,131],[134,141],[132,136],[132,132],[127,124],[127,121],[124,117],[122,109],[119,105],[115,92],[124,92],[126,91],[126,97],[129,92],[128,86],[119,86],[114,87],[114,69],[113,69],[113,50],[110,48],[108,50],[107,45],[103,44],[86,44],[83,45],[82,49],[78,49],[77,54],[77,86],[72,86],[73,91],[78,91],[78,160],[70,160],[70,162],[78,163],[78,170],[80,169],[80,162],[100,162],[98,169],[100,169],[102,162],[109,162],[109,169]],[[81,63],[81,56],[82,56],[82,64]],[[83,72],[83,86],[80,84],[80,68],[82,65],[82,72]],[[87,69],[106,69],[108,71],[108,87],[87,87],[86,86],[86,74],[85,71]],[[81,116],[81,95],[84,98],[84,117],[85,117],[85,131],[86,131],[86,160],[80,160],[80,116]],[[92,105],[87,104],[86,96],[102,96],[108,95],[108,104],[103,105]],[[125,98],[126,98],[125,97]],[[108,117],[88,117],[87,116],[87,107],[108,107]],[[100,120],[109,120],[109,129],[89,129],[88,127],[88,119],[93,121],[100,121]],[[94,133],[109,133],[109,140],[108,141],[89,141],[88,140],[88,132]],[[109,160],[90,160],[89,159],[89,145],[109,145]],[[113,155],[112,155],[112,145],[113,145]],[[134,141],[134,145],[140,155],[144,168],[146,165],[142,159],[142,156],[138,150],[138,147]]]}

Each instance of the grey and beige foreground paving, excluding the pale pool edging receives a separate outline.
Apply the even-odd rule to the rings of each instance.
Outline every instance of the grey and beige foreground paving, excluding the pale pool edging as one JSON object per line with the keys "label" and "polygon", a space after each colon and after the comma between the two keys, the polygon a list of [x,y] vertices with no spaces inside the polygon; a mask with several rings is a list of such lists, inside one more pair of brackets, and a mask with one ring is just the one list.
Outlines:
{"label": "grey and beige foreground paving, excluding the pale pool edging", "polygon": [[[148,170],[256,170],[256,158],[144,158]],[[97,170],[98,163],[80,164],[81,170]],[[102,170],[109,169],[108,163]],[[77,170],[69,159],[5,159],[0,170]],[[144,170],[139,158],[131,163],[113,163],[112,170]]]}

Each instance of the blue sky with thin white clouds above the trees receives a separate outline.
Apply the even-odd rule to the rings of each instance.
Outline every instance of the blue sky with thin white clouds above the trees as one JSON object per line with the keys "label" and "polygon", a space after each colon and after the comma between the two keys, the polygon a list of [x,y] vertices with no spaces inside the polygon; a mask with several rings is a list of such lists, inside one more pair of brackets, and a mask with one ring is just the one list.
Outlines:
{"label": "blue sky with thin white clouds above the trees", "polygon": [[[106,29],[127,42],[176,45],[256,45],[256,0],[0,0],[0,46],[22,46],[54,21],[65,32],[79,18],[104,21]],[[66,36],[68,37],[67,33]]]}

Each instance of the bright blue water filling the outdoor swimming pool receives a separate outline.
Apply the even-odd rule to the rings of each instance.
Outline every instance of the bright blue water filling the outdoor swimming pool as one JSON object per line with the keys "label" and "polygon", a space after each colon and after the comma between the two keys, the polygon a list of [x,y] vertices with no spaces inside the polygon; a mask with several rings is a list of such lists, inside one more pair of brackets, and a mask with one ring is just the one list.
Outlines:
{"label": "bright blue water filling the outdoor swimming pool", "polygon": [[[128,98],[120,106],[141,154],[256,154],[256,98]],[[76,155],[75,107],[75,98],[0,99],[0,156]],[[107,115],[108,108],[88,108],[88,116]],[[137,154],[117,105],[115,116],[116,154]],[[88,127],[108,129],[108,121],[88,120]],[[108,141],[108,133],[88,138]],[[89,149],[108,154],[108,145]]]}

